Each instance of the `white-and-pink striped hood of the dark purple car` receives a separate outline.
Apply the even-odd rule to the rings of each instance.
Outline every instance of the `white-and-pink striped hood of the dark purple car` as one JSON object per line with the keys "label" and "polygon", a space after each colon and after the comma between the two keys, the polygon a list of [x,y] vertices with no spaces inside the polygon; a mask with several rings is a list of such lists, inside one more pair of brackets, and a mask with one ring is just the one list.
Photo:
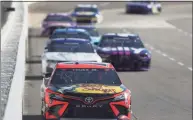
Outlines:
{"label": "white-and-pink striped hood of the dark purple car", "polygon": [[140,54],[149,53],[146,48],[133,48],[133,47],[103,47],[98,48],[97,52],[106,54]]}

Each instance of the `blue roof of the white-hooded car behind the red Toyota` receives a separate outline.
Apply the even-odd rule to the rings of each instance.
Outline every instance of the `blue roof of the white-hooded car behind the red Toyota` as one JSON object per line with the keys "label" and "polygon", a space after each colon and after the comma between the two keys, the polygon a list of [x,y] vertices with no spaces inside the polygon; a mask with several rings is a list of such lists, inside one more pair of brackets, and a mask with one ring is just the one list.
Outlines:
{"label": "blue roof of the white-hooded car behind the red Toyota", "polygon": [[58,42],[77,42],[77,43],[83,43],[83,42],[90,42],[89,40],[87,39],[80,39],[80,38],[54,38],[54,39],[51,39],[50,41],[51,43],[58,43]]}

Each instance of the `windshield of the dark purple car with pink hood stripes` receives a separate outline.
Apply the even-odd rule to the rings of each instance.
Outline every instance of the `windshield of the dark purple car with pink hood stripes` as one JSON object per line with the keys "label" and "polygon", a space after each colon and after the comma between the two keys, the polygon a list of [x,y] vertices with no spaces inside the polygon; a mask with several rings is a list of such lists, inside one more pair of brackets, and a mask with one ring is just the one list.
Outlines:
{"label": "windshield of the dark purple car with pink hood stripes", "polygon": [[100,47],[133,47],[133,48],[144,48],[141,39],[138,36],[129,37],[102,37]]}

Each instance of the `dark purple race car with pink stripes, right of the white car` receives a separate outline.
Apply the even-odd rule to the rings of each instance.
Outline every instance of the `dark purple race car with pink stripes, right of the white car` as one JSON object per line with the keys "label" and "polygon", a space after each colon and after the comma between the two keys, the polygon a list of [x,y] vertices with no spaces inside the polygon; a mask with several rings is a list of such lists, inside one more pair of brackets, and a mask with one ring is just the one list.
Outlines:
{"label": "dark purple race car with pink stripes, right of the white car", "polygon": [[151,53],[137,34],[106,33],[101,37],[97,53],[117,70],[148,70],[151,65]]}

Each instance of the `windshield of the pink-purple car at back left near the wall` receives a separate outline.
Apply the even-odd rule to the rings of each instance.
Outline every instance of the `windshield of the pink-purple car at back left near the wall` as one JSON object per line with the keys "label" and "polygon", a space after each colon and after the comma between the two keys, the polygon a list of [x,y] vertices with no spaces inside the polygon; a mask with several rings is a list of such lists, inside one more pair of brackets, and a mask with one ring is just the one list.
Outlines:
{"label": "windshield of the pink-purple car at back left near the wall", "polygon": [[45,21],[62,21],[62,22],[72,22],[72,19],[69,16],[48,16]]}

